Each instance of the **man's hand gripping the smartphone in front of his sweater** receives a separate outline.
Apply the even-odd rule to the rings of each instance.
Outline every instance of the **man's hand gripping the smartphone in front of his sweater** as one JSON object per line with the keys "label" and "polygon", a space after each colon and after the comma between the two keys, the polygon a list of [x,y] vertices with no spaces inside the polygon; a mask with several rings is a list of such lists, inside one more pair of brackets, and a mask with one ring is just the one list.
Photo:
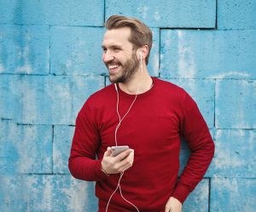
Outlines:
{"label": "man's hand gripping the smartphone in front of his sweater", "polygon": [[115,157],[111,156],[111,153],[111,148],[108,147],[102,158],[102,169],[108,174],[118,174],[132,166],[134,150],[125,150]]}

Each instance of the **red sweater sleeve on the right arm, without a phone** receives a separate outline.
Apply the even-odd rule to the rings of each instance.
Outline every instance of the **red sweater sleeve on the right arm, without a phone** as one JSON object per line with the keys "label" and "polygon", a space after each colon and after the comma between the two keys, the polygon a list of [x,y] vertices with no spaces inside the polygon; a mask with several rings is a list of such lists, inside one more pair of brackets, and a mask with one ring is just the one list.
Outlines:
{"label": "red sweater sleeve on the right arm, without a phone", "polygon": [[207,123],[201,115],[195,101],[186,93],[183,102],[183,120],[181,133],[188,142],[190,157],[177,181],[172,197],[181,203],[202,180],[214,154],[214,143]]}

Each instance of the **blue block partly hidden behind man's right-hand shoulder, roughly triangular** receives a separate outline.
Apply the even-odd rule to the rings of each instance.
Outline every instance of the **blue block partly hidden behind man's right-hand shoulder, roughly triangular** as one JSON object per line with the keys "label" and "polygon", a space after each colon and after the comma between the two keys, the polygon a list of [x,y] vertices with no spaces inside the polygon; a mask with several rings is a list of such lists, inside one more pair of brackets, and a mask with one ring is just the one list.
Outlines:
{"label": "blue block partly hidden behind man's right-hand shoulder, roughly triangular", "polygon": [[177,84],[177,86],[185,89],[197,103],[197,106],[199,107],[202,116],[207,122],[208,128],[213,128],[215,95],[215,82],[213,80],[167,78],[163,80]]}

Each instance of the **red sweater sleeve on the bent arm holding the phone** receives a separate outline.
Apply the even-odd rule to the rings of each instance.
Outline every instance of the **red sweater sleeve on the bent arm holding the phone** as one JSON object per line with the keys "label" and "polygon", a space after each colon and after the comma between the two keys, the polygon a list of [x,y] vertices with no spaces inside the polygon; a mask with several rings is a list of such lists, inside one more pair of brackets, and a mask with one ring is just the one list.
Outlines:
{"label": "red sweater sleeve on the bent arm holding the phone", "polygon": [[102,160],[96,160],[100,136],[93,114],[86,101],[76,119],[68,168],[73,177],[79,180],[103,180],[107,176],[101,170]]}

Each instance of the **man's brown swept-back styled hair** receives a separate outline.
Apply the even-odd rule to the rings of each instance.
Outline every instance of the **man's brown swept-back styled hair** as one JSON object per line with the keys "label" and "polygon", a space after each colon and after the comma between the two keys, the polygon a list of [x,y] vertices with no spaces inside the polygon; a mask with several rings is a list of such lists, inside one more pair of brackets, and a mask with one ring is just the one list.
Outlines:
{"label": "man's brown swept-back styled hair", "polygon": [[133,49],[148,46],[148,55],[146,57],[146,64],[148,65],[148,58],[152,48],[152,32],[142,21],[135,18],[125,17],[121,15],[112,15],[105,22],[105,27],[108,30],[119,29],[122,27],[129,27],[131,29],[131,36],[128,38],[133,44]]}

